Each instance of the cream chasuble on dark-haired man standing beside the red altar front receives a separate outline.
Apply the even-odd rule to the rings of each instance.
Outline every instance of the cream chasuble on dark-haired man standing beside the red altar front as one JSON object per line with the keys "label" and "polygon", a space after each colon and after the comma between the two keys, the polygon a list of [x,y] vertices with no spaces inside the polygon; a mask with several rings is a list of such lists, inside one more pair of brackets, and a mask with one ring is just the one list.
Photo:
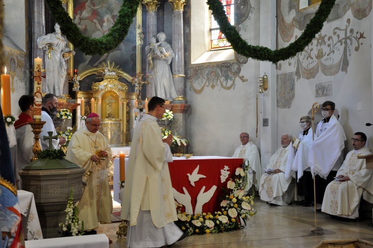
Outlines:
{"label": "cream chasuble on dark-haired man standing beside the red altar front", "polygon": [[167,163],[172,161],[172,154],[162,141],[156,120],[144,115],[132,139],[120,213],[130,226],[137,225],[140,211],[150,210],[157,228],[178,219]]}

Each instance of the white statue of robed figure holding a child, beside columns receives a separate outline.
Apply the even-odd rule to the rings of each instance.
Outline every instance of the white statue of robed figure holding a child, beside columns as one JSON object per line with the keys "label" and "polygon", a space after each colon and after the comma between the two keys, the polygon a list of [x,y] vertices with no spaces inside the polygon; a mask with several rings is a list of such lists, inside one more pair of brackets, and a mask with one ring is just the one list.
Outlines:
{"label": "white statue of robed figure holding a child, beside columns", "polygon": [[[154,43],[155,39],[151,39],[151,44],[145,48],[146,52],[151,53],[148,59],[151,58],[151,63],[154,66],[153,68],[149,67],[153,75],[152,96],[172,101],[177,97],[170,69],[170,63],[172,58],[175,57],[175,53],[166,41],[166,34],[164,32],[159,32],[157,39],[159,43]],[[155,49],[157,47],[158,49]]]}

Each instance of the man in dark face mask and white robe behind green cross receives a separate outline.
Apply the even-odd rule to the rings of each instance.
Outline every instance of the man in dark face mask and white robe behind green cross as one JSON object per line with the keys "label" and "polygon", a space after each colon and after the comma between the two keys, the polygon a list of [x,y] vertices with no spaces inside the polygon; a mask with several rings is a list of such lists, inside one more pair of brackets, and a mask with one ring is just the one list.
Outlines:
{"label": "man in dark face mask and white robe behind green cross", "polygon": [[[43,150],[49,149],[49,139],[43,140],[44,136],[48,136],[48,131],[52,131],[52,136],[57,135],[56,128],[54,127],[51,114],[54,114],[58,108],[58,100],[54,94],[46,94],[41,104],[41,121],[46,122],[41,128],[40,140],[41,148]],[[66,138],[59,137],[58,139],[52,139],[53,148],[58,149],[59,145],[66,143]]]}

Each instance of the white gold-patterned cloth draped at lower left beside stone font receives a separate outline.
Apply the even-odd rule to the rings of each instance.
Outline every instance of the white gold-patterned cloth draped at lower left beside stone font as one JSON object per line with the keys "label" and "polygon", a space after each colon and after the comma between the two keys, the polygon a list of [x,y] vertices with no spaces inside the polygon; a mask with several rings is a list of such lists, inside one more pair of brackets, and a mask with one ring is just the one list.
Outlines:
{"label": "white gold-patterned cloth draped at lower left beside stone font", "polygon": [[22,214],[24,238],[26,240],[43,239],[34,194],[24,190],[17,190],[17,196]]}

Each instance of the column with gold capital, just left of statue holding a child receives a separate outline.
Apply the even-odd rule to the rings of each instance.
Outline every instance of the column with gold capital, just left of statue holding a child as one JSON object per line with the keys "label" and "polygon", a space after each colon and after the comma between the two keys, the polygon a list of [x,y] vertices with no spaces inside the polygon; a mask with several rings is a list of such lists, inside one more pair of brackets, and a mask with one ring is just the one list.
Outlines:
{"label": "column with gold capital, just left of statue holding a child", "polygon": [[[149,39],[157,36],[157,9],[159,7],[159,1],[157,0],[143,0],[142,4],[146,6],[146,45],[149,44]],[[153,78],[151,72],[149,72],[148,61],[146,64],[146,80],[150,82],[150,85],[146,87],[146,97],[152,96],[152,85]]]}

